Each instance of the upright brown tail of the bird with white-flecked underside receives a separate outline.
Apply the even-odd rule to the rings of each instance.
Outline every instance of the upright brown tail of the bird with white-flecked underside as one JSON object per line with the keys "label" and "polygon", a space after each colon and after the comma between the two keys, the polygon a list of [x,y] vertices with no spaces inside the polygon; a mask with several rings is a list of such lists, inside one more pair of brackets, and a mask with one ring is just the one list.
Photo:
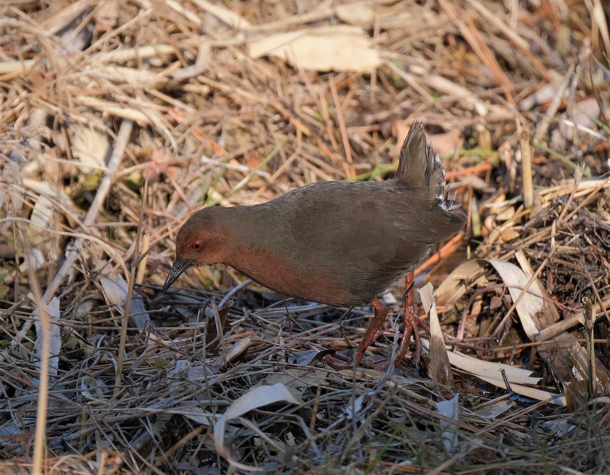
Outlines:
{"label": "upright brown tail of the bird with white-flecked underside", "polygon": [[434,145],[426,140],[422,122],[414,122],[400,150],[394,181],[409,188],[423,188],[431,201],[446,211],[459,208],[457,201],[445,197],[445,169]]}

